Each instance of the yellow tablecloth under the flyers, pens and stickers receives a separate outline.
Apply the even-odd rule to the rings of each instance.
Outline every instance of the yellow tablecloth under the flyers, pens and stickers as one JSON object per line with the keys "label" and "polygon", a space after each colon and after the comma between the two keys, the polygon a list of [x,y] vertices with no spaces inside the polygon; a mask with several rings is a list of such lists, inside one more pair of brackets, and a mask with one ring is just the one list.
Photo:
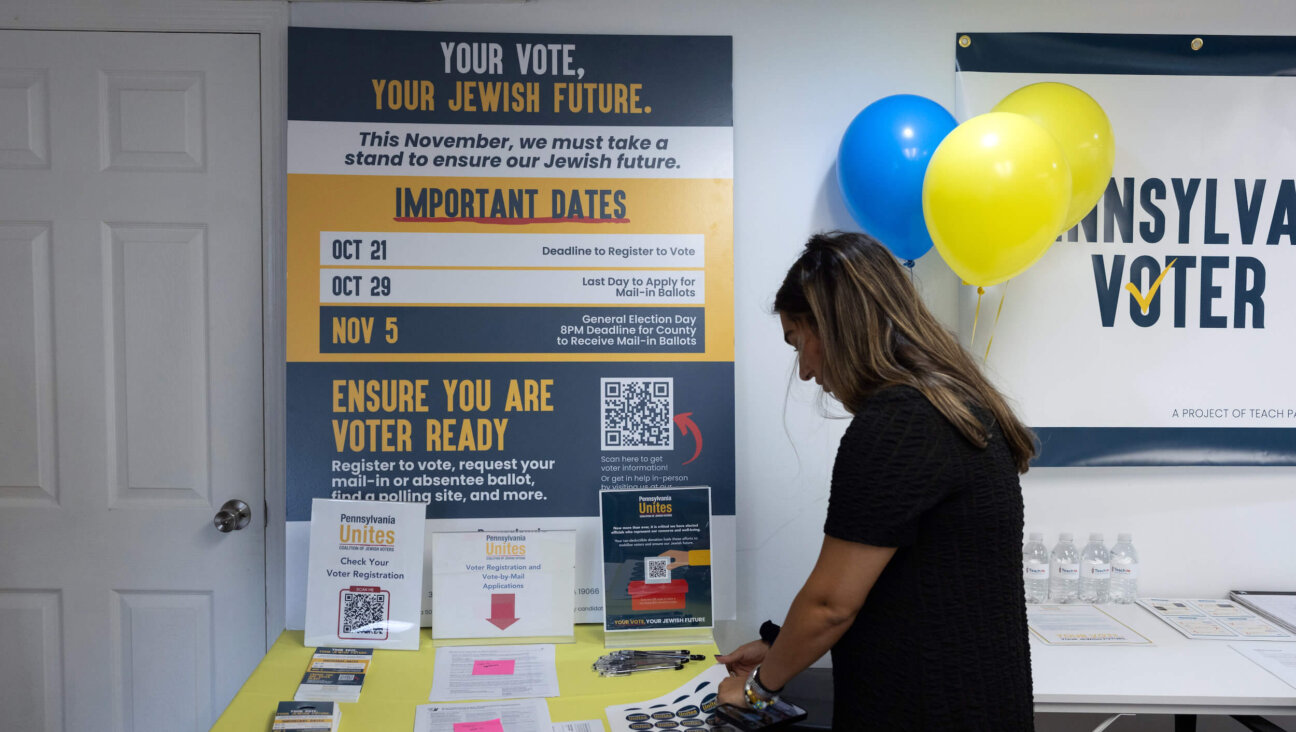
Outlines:
{"label": "yellow tablecloth under the flyers, pens and stickers", "polygon": [[[679,688],[688,679],[715,663],[715,645],[691,646],[706,661],[693,661],[679,671],[647,671],[605,679],[590,666],[603,648],[603,627],[575,626],[575,643],[557,644],[559,691],[548,700],[553,722],[601,719],[604,707],[658,697]],[[284,631],[248,678],[220,719],[215,732],[255,732],[270,729],[275,707],[297,693],[314,648],[302,645],[302,631]],[[432,631],[424,628],[419,650],[375,650],[364,691],[356,703],[342,703],[341,732],[412,732],[413,709],[428,702],[435,648]]]}

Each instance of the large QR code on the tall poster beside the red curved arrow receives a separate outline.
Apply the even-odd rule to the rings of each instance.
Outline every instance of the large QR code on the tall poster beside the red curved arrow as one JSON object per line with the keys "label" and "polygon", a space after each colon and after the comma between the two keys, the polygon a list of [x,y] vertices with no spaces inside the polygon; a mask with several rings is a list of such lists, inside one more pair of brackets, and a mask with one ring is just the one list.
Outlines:
{"label": "large QR code on the tall poster beside the red curved arrow", "polygon": [[675,380],[600,381],[603,450],[674,450]]}

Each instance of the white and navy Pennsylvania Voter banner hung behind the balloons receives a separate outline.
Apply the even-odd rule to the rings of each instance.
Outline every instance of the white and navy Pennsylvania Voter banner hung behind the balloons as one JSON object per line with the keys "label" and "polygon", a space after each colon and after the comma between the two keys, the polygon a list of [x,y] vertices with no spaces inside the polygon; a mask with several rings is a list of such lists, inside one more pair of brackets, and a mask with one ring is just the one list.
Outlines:
{"label": "white and navy Pennsylvania Voter banner hung behind the balloons", "polygon": [[1034,465],[1296,465],[1296,39],[959,38],[959,119],[1060,82],[1116,140],[1094,211],[981,303]]}

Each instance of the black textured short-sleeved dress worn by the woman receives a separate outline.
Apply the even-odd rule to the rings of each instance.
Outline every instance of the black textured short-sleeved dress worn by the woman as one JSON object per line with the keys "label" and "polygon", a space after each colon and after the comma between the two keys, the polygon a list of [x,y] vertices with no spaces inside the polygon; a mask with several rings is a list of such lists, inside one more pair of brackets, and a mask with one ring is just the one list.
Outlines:
{"label": "black textured short-sleeved dress worn by the woman", "polygon": [[1021,486],[915,389],[879,391],[837,450],[824,532],[898,547],[832,649],[833,729],[1033,729]]}

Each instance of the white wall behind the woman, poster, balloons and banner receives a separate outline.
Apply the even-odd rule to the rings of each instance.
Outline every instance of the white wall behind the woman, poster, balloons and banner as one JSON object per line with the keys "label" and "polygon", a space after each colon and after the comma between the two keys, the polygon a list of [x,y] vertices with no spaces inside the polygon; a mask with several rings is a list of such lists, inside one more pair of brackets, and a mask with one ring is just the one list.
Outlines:
{"label": "white wall behind the woman, poster, balloons and banner", "polygon": [[[732,639],[722,636],[726,643],[753,635],[765,618],[783,618],[823,535],[828,474],[845,421],[824,420],[805,385],[788,389],[792,352],[769,307],[809,233],[853,227],[833,183],[833,157],[854,114],[898,92],[953,109],[956,31],[1296,34],[1296,4],[297,3],[293,23],[734,36],[739,621]],[[928,255],[916,276],[931,307],[955,324],[959,286],[945,264]],[[1231,587],[1296,586],[1296,469],[1037,469],[1023,482],[1028,526],[1050,542],[1061,530],[1134,531],[1147,592],[1222,596]],[[1041,724],[1093,726],[1073,718]],[[1117,728],[1169,729],[1169,723],[1139,719]]]}

